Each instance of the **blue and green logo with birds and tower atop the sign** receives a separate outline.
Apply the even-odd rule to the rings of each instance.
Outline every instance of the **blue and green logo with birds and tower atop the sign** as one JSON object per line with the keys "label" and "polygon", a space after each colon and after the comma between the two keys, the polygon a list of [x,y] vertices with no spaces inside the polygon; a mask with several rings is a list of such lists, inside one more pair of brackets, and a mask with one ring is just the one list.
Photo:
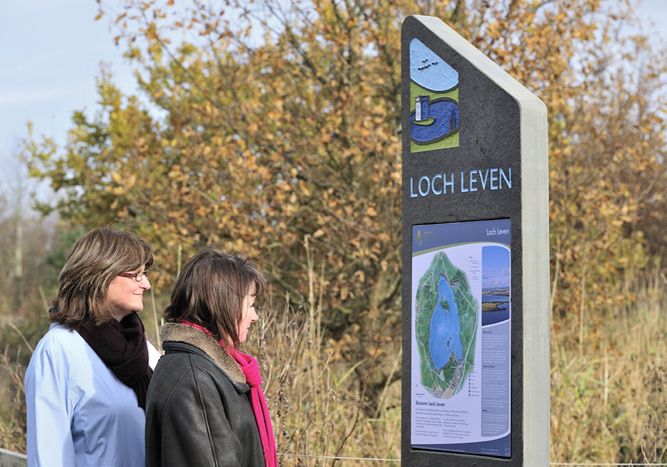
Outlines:
{"label": "blue and green logo with birds and tower atop the sign", "polygon": [[459,147],[459,73],[410,41],[410,152]]}

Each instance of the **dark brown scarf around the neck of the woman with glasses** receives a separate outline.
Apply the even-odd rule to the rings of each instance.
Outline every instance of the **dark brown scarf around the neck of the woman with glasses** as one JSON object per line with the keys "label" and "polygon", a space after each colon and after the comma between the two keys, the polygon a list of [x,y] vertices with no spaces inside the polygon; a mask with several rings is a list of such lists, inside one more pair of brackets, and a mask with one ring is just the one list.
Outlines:
{"label": "dark brown scarf around the neck of the woman with glasses", "polygon": [[153,370],[143,323],[136,313],[101,326],[86,322],[77,330],[112,372],[136,394],[138,406],[146,409],[146,392]]}

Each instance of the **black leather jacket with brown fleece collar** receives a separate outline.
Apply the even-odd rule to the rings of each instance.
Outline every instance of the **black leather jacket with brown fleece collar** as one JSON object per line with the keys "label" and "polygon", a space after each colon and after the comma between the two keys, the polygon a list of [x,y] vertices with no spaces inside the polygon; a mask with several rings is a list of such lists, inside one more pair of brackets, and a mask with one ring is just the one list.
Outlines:
{"label": "black leather jacket with brown fleece collar", "polygon": [[146,403],[147,467],[265,467],[241,368],[218,342],[186,324],[162,328]]}

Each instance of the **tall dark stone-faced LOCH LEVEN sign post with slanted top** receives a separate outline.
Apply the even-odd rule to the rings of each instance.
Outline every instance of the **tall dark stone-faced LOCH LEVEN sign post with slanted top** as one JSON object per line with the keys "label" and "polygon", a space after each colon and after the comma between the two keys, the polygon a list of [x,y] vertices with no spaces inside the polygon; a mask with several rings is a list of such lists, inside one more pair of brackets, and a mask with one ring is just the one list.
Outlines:
{"label": "tall dark stone-faced LOCH LEVEN sign post with slanted top", "polygon": [[401,46],[402,465],[548,467],[546,106],[439,19]]}

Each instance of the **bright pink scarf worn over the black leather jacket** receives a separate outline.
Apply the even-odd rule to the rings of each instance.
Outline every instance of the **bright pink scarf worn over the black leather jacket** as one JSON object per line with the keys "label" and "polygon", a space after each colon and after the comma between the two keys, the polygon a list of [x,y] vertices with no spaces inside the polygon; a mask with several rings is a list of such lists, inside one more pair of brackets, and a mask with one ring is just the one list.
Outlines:
{"label": "bright pink scarf worn over the black leather jacket", "polygon": [[[187,324],[193,326],[201,331],[204,331],[208,335],[211,335],[208,329],[199,326],[190,321],[183,320],[182,324]],[[243,352],[239,352],[235,348],[227,346],[224,341],[220,341],[220,345],[223,346],[229,354],[234,357],[234,360],[239,363],[243,374],[245,374],[245,381],[250,386],[250,401],[252,405],[252,411],[255,415],[255,420],[257,421],[257,427],[259,429],[259,436],[262,440],[262,447],[264,448],[264,461],[266,467],[278,467],[278,455],[276,453],[276,440],[274,438],[274,429],[271,426],[271,417],[269,416],[269,407],[267,407],[266,399],[264,398],[264,392],[260,385],[262,384],[262,376],[259,374],[259,364],[257,360],[250,355],[245,355]]]}

